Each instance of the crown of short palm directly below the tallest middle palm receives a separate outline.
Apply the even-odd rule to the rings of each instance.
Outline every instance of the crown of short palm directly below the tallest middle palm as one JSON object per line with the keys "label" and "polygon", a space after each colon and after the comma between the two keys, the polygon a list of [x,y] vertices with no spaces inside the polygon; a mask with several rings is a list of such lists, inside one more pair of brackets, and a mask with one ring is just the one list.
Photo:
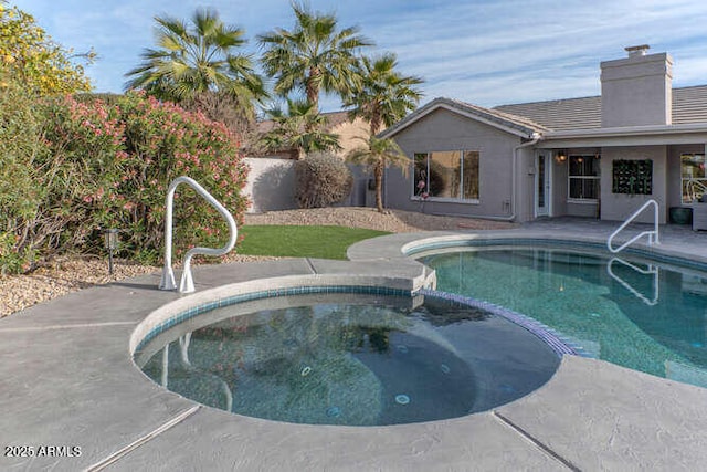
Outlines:
{"label": "crown of short palm directly below the tallest middle palm", "polygon": [[327,118],[309,102],[287,98],[287,113],[277,107],[266,113],[275,125],[261,138],[268,149],[297,149],[298,158],[313,151],[341,149],[339,136],[325,130]]}

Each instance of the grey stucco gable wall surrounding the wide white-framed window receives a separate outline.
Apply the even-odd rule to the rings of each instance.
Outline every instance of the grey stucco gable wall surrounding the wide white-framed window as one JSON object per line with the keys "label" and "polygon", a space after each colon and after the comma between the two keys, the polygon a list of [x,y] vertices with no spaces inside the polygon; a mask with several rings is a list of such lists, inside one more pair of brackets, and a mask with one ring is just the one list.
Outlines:
{"label": "grey stucco gable wall surrounding the wide white-framed window", "polygon": [[[446,109],[436,109],[394,135],[394,140],[410,157],[415,153],[443,150],[477,150],[479,153],[479,199],[453,202],[434,198],[422,202],[412,198],[413,183],[410,174],[387,171],[386,204],[408,211],[434,214],[509,217],[511,214],[511,170],[514,148],[520,138]],[[532,153],[527,151],[527,156]],[[531,158],[523,162],[528,168]],[[524,172],[520,186],[527,186],[532,176]],[[524,209],[524,219],[530,218]]]}

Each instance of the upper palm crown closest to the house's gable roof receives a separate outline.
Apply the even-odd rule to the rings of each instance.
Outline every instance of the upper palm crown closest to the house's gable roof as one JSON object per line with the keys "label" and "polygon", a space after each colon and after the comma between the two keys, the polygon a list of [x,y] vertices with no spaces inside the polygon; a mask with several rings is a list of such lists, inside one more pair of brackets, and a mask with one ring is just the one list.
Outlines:
{"label": "upper palm crown closest to the house's gable roof", "polygon": [[398,59],[393,53],[376,59],[361,57],[357,66],[360,82],[344,101],[345,107],[354,107],[351,118],[360,116],[366,119],[373,136],[383,125],[391,126],[415,109],[422,97],[415,88],[422,78],[399,74],[397,65]]}

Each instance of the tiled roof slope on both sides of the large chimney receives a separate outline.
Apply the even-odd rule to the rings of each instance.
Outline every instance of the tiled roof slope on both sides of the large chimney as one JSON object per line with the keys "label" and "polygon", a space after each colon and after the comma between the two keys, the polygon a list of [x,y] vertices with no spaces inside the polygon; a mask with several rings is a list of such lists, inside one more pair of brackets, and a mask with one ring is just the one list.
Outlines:
{"label": "tiled roof slope on both sides of the large chimney", "polygon": [[[493,111],[525,117],[552,130],[601,127],[601,96],[502,105]],[[673,88],[673,124],[707,123],[707,85]]]}

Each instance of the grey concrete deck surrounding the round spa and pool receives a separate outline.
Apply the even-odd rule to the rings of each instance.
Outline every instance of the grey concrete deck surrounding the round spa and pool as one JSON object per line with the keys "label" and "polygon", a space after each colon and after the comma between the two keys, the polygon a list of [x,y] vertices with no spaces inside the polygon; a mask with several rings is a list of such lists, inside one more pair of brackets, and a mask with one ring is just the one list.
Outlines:
{"label": "grey concrete deck surrounding the round spa and pool", "polygon": [[[581,234],[601,241],[612,228],[549,220],[503,234]],[[391,276],[412,277],[420,269],[400,265],[400,247],[420,237],[358,244],[349,255],[359,262],[200,266],[194,280],[199,293],[225,283],[315,273],[380,276],[390,269]],[[707,261],[707,234],[667,228],[662,237],[661,251]],[[548,384],[515,402],[428,423],[288,424],[199,407],[147,379],[129,355],[136,326],[179,298],[158,291],[158,282],[154,274],[97,286],[0,319],[0,470],[706,468],[707,389],[579,357],[564,357]],[[31,448],[35,457],[8,457],[30,452],[9,447]],[[77,447],[81,455],[45,447]]]}

